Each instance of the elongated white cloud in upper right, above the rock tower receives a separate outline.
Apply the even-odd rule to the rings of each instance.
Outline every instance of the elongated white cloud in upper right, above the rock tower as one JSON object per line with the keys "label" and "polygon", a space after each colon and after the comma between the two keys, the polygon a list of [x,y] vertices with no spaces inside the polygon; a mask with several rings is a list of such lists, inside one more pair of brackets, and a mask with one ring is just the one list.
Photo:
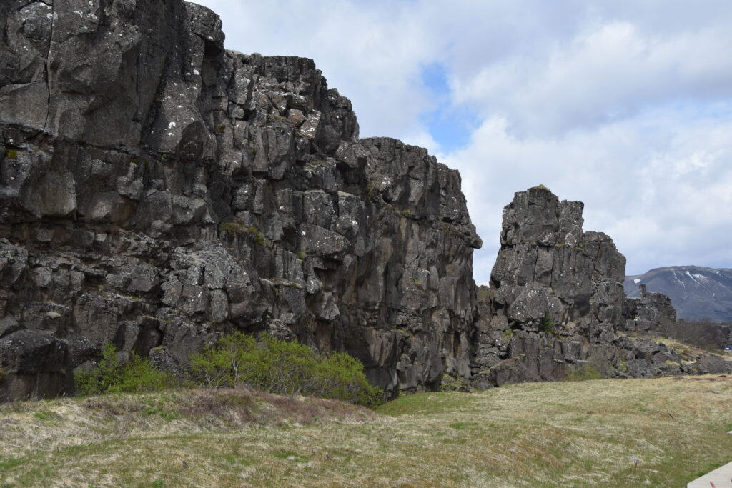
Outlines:
{"label": "elongated white cloud in upper right, above the rock tower", "polygon": [[732,96],[732,33],[662,37],[633,23],[589,26],[567,44],[513,56],[455,78],[455,102],[509,114],[520,134],[561,136],[651,105]]}

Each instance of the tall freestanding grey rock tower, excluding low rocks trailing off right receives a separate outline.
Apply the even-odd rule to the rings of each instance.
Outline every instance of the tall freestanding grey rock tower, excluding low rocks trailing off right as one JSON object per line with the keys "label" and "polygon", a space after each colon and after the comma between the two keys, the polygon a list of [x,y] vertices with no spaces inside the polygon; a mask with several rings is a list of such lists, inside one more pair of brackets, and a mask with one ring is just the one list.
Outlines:
{"label": "tall freestanding grey rock tower, excluding low rocks trailing off right", "polygon": [[504,209],[488,300],[479,302],[501,334],[479,333],[473,345],[474,373],[502,361],[491,367],[493,385],[561,380],[577,364],[611,369],[605,345],[616,339],[625,259],[608,236],[583,232],[582,211],[543,187]]}

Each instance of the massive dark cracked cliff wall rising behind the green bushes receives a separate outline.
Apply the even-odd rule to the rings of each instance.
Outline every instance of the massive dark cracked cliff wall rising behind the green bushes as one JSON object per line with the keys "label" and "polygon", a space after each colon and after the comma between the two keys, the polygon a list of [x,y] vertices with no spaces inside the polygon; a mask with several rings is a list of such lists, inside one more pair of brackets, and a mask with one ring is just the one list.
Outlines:
{"label": "massive dark cracked cliff wall rising behind the green bushes", "polygon": [[0,397],[104,342],[171,368],[231,329],[346,350],[390,391],[470,375],[460,176],[358,138],[309,59],[223,49],[181,0],[0,4]]}

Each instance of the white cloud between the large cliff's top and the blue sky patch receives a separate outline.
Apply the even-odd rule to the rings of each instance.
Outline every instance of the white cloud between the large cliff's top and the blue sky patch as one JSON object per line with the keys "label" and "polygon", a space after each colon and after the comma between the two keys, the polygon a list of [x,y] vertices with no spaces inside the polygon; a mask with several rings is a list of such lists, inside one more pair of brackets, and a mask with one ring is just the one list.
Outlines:
{"label": "white cloud between the large cliff's top and the blue sky patch", "polygon": [[[304,56],[331,88],[353,102],[364,136],[425,142],[421,113],[434,107],[421,79],[438,38],[408,3],[203,0],[221,15],[226,46],[264,55]],[[430,138],[431,140],[431,138]]]}

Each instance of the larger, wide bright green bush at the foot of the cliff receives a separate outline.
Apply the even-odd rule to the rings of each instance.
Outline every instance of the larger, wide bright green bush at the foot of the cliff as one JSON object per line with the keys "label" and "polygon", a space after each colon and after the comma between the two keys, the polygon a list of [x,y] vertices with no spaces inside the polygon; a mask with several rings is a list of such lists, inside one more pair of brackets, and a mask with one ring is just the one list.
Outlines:
{"label": "larger, wide bright green bush at the foot of the cliff", "polygon": [[194,380],[209,386],[247,385],[275,394],[302,394],[376,405],[384,392],[370,386],[363,364],[345,353],[327,358],[307,345],[241,331],[191,358]]}

